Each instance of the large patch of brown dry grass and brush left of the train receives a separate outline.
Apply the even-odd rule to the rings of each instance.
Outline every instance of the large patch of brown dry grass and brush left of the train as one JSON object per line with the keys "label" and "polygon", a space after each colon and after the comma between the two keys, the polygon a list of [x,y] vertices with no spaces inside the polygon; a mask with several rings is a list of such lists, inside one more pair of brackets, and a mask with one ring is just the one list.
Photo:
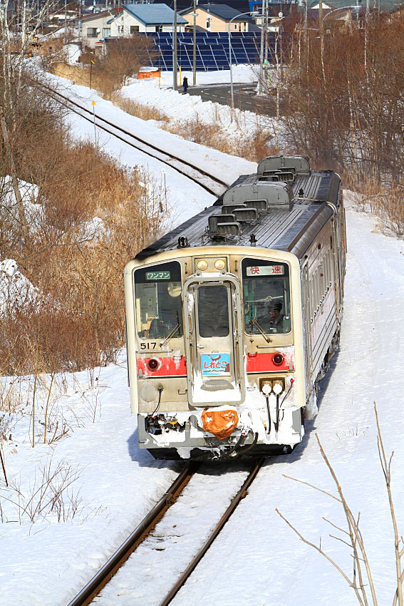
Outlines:
{"label": "large patch of brown dry grass and brush left of the train", "polygon": [[54,124],[16,140],[17,174],[38,185],[41,212],[22,238],[0,186],[0,258],[15,259],[37,294],[0,313],[0,374],[114,361],[125,343],[123,267],[160,229],[161,184]]}

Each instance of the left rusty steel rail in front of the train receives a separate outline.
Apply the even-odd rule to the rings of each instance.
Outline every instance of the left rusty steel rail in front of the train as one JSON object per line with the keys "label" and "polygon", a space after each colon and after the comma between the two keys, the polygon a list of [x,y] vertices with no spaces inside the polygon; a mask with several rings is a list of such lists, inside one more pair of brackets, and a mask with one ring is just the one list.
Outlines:
{"label": "left rusty steel rail in front of the train", "polygon": [[181,493],[183,488],[190,481],[197,468],[200,467],[200,463],[191,462],[185,467],[180,475],[172,483],[168,491],[162,495],[162,498],[156,503],[156,505],[150,510],[140,524],[133,530],[128,538],[124,541],[120,548],[113,554],[113,556],[106,562],[97,574],[87,583],[86,587],[83,587],[76,597],[68,603],[68,606],[86,606],[88,605],[95,595],[105,587],[107,582],[110,580],[115,572],[128,560],[129,556],[133,551],[142,543],[145,535],[150,532],[153,526],[156,525],[158,520],[167,511],[168,508],[175,502],[177,496]]}

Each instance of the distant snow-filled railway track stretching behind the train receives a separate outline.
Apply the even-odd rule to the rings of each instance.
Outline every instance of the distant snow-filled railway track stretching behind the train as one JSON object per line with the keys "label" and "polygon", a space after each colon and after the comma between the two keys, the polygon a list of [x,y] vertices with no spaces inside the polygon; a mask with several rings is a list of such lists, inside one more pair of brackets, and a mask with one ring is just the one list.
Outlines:
{"label": "distant snow-filled railway track stretching behind the train", "polygon": [[184,175],[194,183],[197,183],[197,185],[200,185],[201,188],[204,188],[204,190],[207,190],[210,194],[219,196],[229,187],[229,183],[225,183],[221,179],[209,175],[206,170],[198,168],[187,160],[173,155],[172,153],[168,153],[167,151],[158,148],[157,145],[147,143],[137,135],[130,133],[128,130],[125,130],[125,128],[115,125],[110,122],[110,120],[107,120],[100,115],[95,114],[94,116],[93,112],[88,108],[81,106],[79,103],[76,103],[76,101],[73,101],[73,99],[62,95],[50,86],[41,85],[41,88],[45,89],[51,98],[58,101],[58,103],[61,103],[61,105],[65,106],[68,110],[80,115],[81,118],[84,118],[91,124],[93,124],[95,120],[95,125],[100,128],[100,130],[113,135],[113,137],[120,139],[131,147],[170,166],[170,168],[173,168],[181,175]]}

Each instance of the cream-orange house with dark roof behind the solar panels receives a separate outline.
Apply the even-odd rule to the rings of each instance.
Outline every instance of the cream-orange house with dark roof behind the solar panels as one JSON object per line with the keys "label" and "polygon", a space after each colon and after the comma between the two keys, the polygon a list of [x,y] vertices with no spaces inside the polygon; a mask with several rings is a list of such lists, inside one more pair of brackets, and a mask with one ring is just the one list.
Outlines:
{"label": "cream-orange house with dark roof behind the solar panels", "polygon": [[[228,31],[230,21],[230,31],[249,31],[249,24],[252,23],[249,15],[240,16],[237,9],[227,4],[198,4],[195,13],[199,31]],[[194,25],[193,14],[193,7],[181,11],[189,24],[187,29]]]}

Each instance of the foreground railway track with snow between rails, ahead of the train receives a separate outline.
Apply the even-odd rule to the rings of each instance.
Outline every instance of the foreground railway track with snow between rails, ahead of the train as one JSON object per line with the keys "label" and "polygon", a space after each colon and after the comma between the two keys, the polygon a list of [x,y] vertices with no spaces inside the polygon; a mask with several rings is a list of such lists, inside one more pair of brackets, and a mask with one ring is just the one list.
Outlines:
{"label": "foreground railway track with snow between rails, ahead of the train", "polygon": [[68,606],[126,606],[128,600],[132,606],[168,606],[247,495],[262,463],[224,475],[221,468],[191,463]]}

